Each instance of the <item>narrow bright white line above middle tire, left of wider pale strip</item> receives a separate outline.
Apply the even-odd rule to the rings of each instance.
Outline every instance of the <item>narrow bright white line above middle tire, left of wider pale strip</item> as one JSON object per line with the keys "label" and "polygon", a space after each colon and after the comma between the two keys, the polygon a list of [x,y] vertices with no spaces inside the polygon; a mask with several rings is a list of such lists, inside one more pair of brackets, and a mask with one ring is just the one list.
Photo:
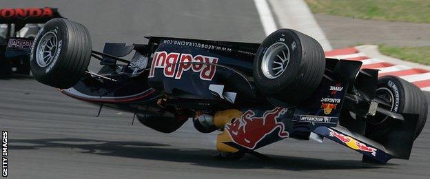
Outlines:
{"label": "narrow bright white line above middle tire, left of wider pale strip", "polygon": [[278,30],[278,28],[276,28],[276,23],[272,16],[272,12],[270,11],[269,4],[267,4],[267,1],[254,0],[254,3],[256,4],[258,14],[260,14],[260,21],[263,24],[266,36],[274,32],[275,30]]}

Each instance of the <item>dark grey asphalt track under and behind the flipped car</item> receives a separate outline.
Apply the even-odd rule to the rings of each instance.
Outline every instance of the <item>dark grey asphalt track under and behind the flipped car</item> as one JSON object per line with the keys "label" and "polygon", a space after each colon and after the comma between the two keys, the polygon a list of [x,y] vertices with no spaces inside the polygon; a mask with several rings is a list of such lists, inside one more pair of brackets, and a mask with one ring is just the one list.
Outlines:
{"label": "dark grey asphalt track under and behind the flipped car", "polygon": [[[1,1],[0,7],[59,8],[86,25],[94,49],[104,41],[144,42],[145,35],[259,42],[264,38],[253,1]],[[92,64],[94,65],[94,64]],[[427,95],[428,96],[428,95]],[[132,114],[68,98],[31,78],[0,80],[0,128],[8,129],[10,178],[429,178],[430,125],[410,160],[388,165],[325,140],[285,139],[258,149],[272,160],[211,157],[215,135],[186,123],[162,134]],[[190,122],[190,121],[188,121]]]}

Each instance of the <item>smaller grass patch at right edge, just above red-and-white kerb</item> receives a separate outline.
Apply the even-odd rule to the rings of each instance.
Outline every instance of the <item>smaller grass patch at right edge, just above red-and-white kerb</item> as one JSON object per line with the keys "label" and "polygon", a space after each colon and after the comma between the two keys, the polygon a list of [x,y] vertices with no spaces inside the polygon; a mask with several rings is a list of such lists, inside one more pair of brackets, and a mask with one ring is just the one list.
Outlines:
{"label": "smaller grass patch at right edge, just above red-and-white kerb", "polygon": [[379,51],[387,56],[392,56],[405,61],[430,65],[430,46],[424,47],[395,47],[379,45]]}

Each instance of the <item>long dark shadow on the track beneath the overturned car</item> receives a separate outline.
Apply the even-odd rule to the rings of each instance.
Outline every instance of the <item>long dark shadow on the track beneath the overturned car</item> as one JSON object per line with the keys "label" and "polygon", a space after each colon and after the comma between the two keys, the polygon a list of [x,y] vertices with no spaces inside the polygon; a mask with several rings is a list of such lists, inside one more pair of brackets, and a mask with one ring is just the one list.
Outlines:
{"label": "long dark shadow on the track beneath the overturned car", "polygon": [[164,160],[187,162],[192,165],[219,167],[228,169],[283,169],[283,170],[320,170],[320,169],[373,169],[392,167],[393,164],[375,165],[362,163],[360,160],[323,160],[294,156],[268,155],[271,160],[262,160],[247,155],[240,160],[220,160],[212,157],[215,150],[209,149],[178,149],[160,143],[87,140],[81,138],[51,139],[10,139],[10,150],[30,150],[43,148],[79,149],[76,152],[124,158],[140,158],[146,160]]}

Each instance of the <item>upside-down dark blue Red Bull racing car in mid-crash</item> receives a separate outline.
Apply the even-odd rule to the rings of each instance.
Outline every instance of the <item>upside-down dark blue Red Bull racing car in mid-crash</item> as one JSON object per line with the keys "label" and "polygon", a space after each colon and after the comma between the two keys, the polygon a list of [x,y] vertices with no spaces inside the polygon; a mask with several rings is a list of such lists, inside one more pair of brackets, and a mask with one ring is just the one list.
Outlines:
{"label": "upside-down dark blue Red Bull racing car in mid-crash", "polygon": [[[255,149],[289,137],[334,140],[363,162],[408,159],[427,118],[418,87],[378,78],[360,61],[326,59],[315,39],[295,30],[262,43],[147,39],[105,43],[98,52],[83,25],[52,19],[32,43],[30,67],[37,81],[134,112],[157,131],[173,132],[187,119],[203,133],[219,130],[216,149],[227,158],[258,156]],[[103,65],[99,72],[88,70],[90,59]]]}

